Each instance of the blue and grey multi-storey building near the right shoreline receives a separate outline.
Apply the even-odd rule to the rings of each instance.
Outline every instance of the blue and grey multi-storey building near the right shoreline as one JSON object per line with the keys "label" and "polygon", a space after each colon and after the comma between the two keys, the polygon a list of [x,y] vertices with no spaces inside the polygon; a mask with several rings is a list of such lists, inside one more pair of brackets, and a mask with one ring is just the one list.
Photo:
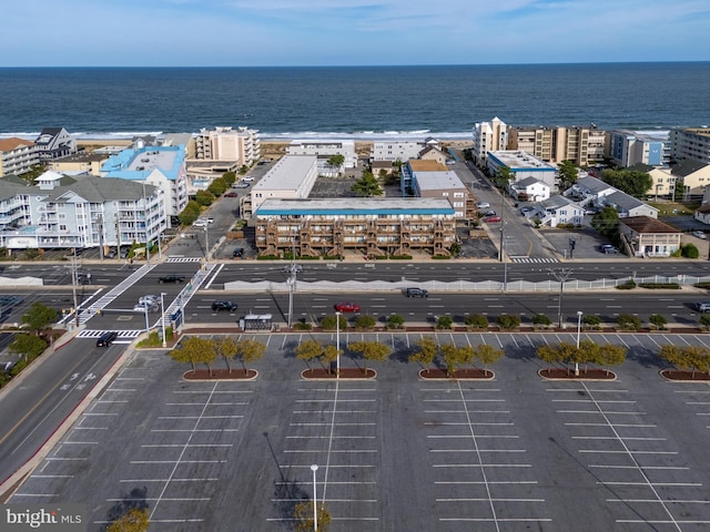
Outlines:
{"label": "blue and grey multi-storey building near the right shoreline", "polygon": [[668,131],[613,130],[609,132],[607,156],[617,166],[668,166],[670,141]]}

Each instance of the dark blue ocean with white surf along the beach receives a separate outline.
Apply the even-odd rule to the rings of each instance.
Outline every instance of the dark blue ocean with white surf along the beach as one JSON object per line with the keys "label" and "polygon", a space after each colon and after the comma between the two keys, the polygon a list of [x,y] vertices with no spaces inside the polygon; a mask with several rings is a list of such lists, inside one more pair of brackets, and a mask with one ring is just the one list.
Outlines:
{"label": "dark blue ocean with white surf along the beach", "polygon": [[0,69],[0,136],[247,126],[262,140],[470,139],[476,122],[667,130],[710,124],[710,62]]}

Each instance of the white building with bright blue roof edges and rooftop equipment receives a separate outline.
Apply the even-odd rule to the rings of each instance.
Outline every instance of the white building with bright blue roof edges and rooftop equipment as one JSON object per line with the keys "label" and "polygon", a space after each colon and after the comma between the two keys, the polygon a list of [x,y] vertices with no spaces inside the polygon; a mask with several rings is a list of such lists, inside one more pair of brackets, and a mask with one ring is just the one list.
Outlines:
{"label": "white building with bright blue roof edges and rooftop equipment", "polygon": [[161,188],[169,226],[172,225],[171,216],[178,216],[187,205],[185,151],[182,145],[123,150],[101,165],[101,175]]}

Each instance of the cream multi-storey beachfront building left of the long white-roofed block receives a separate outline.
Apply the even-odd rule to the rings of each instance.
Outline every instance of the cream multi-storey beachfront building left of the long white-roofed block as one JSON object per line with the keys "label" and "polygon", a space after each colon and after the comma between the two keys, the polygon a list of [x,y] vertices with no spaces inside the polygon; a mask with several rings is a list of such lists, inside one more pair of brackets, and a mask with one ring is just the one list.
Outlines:
{"label": "cream multi-storey beachfront building left of the long white-roofed block", "polygon": [[200,130],[195,135],[195,158],[236,161],[239,166],[251,166],[261,157],[258,130],[248,127],[216,127]]}

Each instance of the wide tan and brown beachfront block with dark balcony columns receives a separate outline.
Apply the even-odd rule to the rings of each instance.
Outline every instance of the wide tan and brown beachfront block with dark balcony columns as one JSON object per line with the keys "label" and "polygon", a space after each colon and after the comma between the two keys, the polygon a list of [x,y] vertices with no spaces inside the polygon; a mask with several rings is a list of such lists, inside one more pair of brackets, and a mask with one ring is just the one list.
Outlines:
{"label": "wide tan and brown beachfront block with dark balcony columns", "polygon": [[505,150],[527,152],[548,163],[571,161],[586,167],[604,162],[607,134],[589,126],[510,126]]}

